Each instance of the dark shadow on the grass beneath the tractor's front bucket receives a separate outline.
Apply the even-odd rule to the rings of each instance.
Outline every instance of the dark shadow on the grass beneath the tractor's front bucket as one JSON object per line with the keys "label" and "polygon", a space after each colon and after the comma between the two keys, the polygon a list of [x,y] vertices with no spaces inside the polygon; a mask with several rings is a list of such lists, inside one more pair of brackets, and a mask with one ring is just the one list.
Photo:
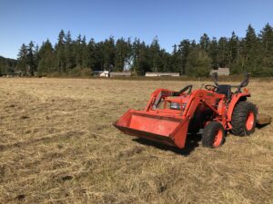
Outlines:
{"label": "dark shadow on the grass beneath the tractor's front bucket", "polygon": [[161,144],[156,141],[147,141],[141,138],[133,139],[133,141],[136,141],[143,145],[153,146],[162,151],[172,151],[174,153],[177,153],[183,156],[188,156],[192,151],[194,151],[197,147],[199,147],[199,141],[201,141],[201,138],[202,138],[201,134],[187,135],[185,148],[182,150],[178,149],[177,147],[171,147],[171,146],[167,146],[166,144]]}

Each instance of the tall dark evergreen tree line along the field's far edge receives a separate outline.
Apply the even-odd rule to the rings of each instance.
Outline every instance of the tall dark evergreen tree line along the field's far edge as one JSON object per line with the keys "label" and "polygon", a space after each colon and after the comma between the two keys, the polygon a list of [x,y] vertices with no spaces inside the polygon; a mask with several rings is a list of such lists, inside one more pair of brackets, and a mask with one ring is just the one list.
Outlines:
{"label": "tall dark evergreen tree line along the field's far edge", "polygon": [[172,53],[163,49],[157,37],[151,44],[136,38],[115,40],[110,36],[96,42],[79,34],[72,39],[70,32],[61,30],[55,45],[46,40],[40,47],[34,42],[22,44],[16,70],[25,74],[81,74],[92,71],[130,71],[136,75],[147,72],[176,72],[192,76],[207,76],[211,69],[228,67],[231,74],[252,73],[273,76],[273,28],[266,24],[257,34],[249,24],[246,36],[209,38],[199,41],[182,40]]}

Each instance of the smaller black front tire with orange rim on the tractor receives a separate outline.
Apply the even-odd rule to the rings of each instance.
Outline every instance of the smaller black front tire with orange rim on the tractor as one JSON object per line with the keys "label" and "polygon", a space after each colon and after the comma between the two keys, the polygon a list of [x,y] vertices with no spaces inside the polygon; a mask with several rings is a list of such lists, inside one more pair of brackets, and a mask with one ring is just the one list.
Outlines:
{"label": "smaller black front tire with orange rim on the tractor", "polygon": [[[221,134],[221,136],[218,136],[218,134]],[[202,144],[204,147],[217,148],[224,143],[225,134],[225,129],[220,122],[211,121],[204,128]],[[217,139],[217,137],[220,138]]]}

